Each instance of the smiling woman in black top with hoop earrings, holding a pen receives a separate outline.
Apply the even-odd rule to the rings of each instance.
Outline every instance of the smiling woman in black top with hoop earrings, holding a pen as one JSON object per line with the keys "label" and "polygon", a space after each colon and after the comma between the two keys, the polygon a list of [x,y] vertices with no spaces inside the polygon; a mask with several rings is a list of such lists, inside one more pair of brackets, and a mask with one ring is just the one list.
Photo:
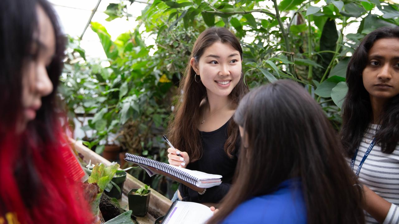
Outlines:
{"label": "smiling woman in black top with hoop earrings, holding a pen", "polygon": [[178,150],[168,149],[168,161],[222,175],[223,183],[199,192],[180,184],[176,193],[180,200],[218,203],[231,187],[240,140],[232,116],[248,92],[242,60],[240,42],[229,29],[205,29],[194,43],[168,127],[170,142]]}

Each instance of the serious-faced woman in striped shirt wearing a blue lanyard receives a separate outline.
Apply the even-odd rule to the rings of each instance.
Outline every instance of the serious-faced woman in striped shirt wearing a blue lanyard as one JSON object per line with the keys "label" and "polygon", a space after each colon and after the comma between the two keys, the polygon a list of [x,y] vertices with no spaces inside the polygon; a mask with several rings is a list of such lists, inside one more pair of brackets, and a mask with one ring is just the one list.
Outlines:
{"label": "serious-faced woman in striped shirt wearing a blue lanyard", "polygon": [[346,72],[342,144],[362,183],[367,223],[399,223],[399,27],[369,33]]}

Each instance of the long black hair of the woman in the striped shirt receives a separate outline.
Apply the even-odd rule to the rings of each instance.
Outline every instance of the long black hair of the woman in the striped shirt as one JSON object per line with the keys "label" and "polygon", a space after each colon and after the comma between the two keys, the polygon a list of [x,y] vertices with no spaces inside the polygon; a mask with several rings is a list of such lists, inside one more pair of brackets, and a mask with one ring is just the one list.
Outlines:
{"label": "long black hair of the woman in the striped shirt", "polygon": [[[399,38],[399,27],[382,27],[367,34],[352,55],[346,70],[348,93],[342,104],[340,136],[348,157],[352,157],[373,117],[370,96],[364,88],[362,73],[368,63],[371,47],[382,38]],[[375,141],[381,145],[383,153],[392,153],[399,141],[399,95],[387,102],[379,120],[381,126],[377,130]]]}

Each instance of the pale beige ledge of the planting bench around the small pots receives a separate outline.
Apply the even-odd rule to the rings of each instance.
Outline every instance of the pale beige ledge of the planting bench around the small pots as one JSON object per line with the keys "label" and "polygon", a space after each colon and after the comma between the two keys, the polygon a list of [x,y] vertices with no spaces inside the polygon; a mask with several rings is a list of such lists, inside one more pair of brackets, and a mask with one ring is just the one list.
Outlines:
{"label": "pale beige ledge of the planting bench around the small pots", "polygon": [[[91,163],[103,163],[105,165],[111,165],[111,162],[107,159],[104,159],[99,154],[91,151],[85,145],[81,144],[78,141],[72,140],[71,147],[74,148],[76,151],[81,153],[84,156],[84,161],[89,162],[91,159]],[[123,193],[127,195],[127,193],[133,188],[140,188],[143,187],[144,183],[139,181],[138,179],[134,178],[132,175],[126,175],[126,181],[123,185]],[[150,196],[150,204],[148,208],[148,212],[151,216],[158,218],[159,216],[163,216],[168,211],[169,207],[172,205],[172,201],[166,198],[165,196],[161,195],[154,189],[151,189],[151,196]]]}

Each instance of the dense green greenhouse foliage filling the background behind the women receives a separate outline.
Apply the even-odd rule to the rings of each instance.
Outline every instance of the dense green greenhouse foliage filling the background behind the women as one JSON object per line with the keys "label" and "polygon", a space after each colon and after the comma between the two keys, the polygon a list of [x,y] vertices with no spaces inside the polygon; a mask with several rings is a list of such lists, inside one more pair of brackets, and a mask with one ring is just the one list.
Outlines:
{"label": "dense green greenhouse foliage filling the background behind the women", "polygon": [[[130,18],[126,3],[131,1],[110,4],[107,20]],[[166,162],[160,135],[172,119],[178,82],[199,33],[218,26],[241,39],[243,73],[250,88],[278,79],[295,80],[338,130],[350,56],[367,33],[398,26],[398,9],[387,0],[154,0],[137,18],[138,27],[115,41],[101,24],[91,23],[109,66],[86,59],[74,40],[77,44],[68,51],[64,96],[70,114],[78,107],[94,114],[83,128],[94,130],[92,145],[100,143],[97,152],[103,149],[101,140],[116,133],[125,150]],[[139,27],[156,37],[155,45],[144,43]],[[348,33],[349,29],[353,31]],[[164,177],[148,180],[140,169],[132,175],[162,191]],[[177,184],[167,179],[166,183],[173,194]]]}

